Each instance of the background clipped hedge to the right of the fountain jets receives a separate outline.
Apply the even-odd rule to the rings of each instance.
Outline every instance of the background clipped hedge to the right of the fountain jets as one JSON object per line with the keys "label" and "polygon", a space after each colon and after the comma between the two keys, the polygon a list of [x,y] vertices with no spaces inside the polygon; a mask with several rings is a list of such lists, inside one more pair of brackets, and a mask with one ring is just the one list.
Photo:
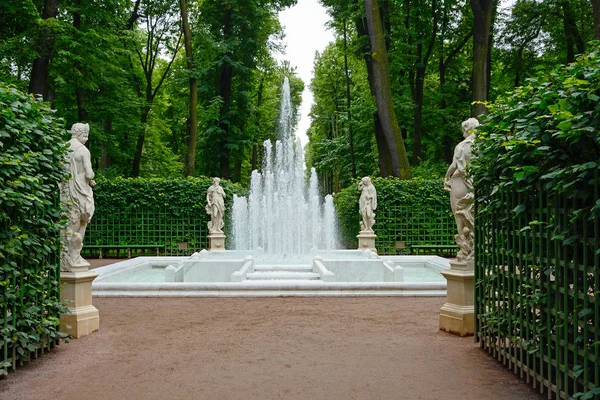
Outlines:
{"label": "background clipped hedge to the right of the fountain jets", "polygon": [[[456,225],[442,180],[372,178],[377,189],[373,230],[380,254],[408,252],[414,245],[454,245]],[[334,197],[341,244],[357,248],[358,182]]]}

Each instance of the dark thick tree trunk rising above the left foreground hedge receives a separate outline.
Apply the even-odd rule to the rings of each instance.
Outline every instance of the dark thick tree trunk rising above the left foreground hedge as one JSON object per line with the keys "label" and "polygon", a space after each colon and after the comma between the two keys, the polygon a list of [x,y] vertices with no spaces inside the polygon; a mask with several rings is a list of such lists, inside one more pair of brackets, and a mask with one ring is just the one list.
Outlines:
{"label": "dark thick tree trunk rising above the left foreground hedge", "polygon": [[[56,18],[58,15],[58,3],[59,0],[45,0],[42,19]],[[44,101],[50,101],[48,71],[50,69],[50,56],[53,46],[54,33],[43,29],[36,42],[38,57],[33,60],[29,79],[29,93],[41,94]]]}

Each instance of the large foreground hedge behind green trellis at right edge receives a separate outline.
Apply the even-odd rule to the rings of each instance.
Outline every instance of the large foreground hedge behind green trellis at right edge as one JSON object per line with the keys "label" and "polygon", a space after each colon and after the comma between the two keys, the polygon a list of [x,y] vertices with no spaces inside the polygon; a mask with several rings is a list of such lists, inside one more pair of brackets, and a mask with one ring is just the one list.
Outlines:
{"label": "large foreground hedge behind green trellis at right edge", "polygon": [[600,396],[600,46],[590,47],[490,106],[471,171],[476,337],[561,398]]}

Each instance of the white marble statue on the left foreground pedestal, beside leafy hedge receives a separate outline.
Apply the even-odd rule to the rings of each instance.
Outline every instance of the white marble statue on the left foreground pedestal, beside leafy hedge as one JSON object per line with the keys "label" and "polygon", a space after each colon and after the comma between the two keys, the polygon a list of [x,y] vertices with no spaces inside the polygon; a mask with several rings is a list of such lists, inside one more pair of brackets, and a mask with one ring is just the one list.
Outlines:
{"label": "white marble statue on the left foreground pedestal, beside leafy hedge", "polygon": [[85,147],[90,133],[88,124],[76,123],[71,128],[66,167],[69,180],[61,187],[61,200],[67,204],[68,225],[63,236],[66,240],[61,253],[61,269],[71,272],[74,267],[89,267],[81,257],[85,228],[94,215],[94,171],[90,151]]}

